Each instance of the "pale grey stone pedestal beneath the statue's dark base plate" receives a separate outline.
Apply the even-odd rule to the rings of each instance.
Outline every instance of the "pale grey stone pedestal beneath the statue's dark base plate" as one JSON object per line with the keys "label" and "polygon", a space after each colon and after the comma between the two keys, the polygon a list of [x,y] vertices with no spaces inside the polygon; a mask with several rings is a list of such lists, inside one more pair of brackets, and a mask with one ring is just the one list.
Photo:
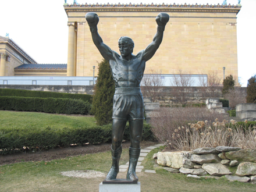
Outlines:
{"label": "pale grey stone pedestal beneath the statue's dark base plate", "polygon": [[99,192],[140,192],[140,182],[138,184],[99,184]]}

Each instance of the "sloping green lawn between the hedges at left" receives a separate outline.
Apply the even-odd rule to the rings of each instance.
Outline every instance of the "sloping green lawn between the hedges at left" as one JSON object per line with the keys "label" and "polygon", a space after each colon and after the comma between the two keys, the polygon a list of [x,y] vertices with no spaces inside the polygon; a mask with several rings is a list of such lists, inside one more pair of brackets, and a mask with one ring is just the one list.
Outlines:
{"label": "sloping green lawn between the hedges at left", "polygon": [[67,116],[39,112],[0,111],[1,127],[81,127],[93,126],[94,117]]}

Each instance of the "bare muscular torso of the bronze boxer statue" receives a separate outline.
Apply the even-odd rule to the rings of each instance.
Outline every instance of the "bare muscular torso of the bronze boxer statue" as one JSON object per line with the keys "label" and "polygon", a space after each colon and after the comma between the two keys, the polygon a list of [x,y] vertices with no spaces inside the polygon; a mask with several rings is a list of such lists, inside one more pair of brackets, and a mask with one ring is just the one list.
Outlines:
{"label": "bare muscular torso of the bronze boxer statue", "polygon": [[140,81],[145,70],[145,61],[142,60],[144,51],[133,55],[130,61],[126,61],[118,53],[113,51],[113,59],[109,61],[112,76],[118,87],[140,87]]}

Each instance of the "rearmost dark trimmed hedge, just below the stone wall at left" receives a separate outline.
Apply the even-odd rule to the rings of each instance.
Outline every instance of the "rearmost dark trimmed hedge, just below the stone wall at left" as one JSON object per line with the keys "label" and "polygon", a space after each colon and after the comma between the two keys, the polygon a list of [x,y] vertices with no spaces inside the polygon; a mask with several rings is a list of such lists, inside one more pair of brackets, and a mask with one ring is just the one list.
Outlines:
{"label": "rearmost dark trimmed hedge, just below the stone wall at left", "polygon": [[67,98],[67,99],[82,99],[83,101],[93,102],[93,96],[87,94],[71,94],[71,93],[56,93],[48,91],[29,91],[16,90],[11,88],[0,88],[1,96],[16,96],[16,97],[41,97],[41,98]]}

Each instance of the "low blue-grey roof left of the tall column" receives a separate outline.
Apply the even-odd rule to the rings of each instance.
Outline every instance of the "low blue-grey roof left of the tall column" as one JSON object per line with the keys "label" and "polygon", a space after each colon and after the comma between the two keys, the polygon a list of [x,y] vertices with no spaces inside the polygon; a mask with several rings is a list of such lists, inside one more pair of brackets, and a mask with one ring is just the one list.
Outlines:
{"label": "low blue-grey roof left of the tall column", "polygon": [[67,64],[23,64],[15,69],[67,69]]}

